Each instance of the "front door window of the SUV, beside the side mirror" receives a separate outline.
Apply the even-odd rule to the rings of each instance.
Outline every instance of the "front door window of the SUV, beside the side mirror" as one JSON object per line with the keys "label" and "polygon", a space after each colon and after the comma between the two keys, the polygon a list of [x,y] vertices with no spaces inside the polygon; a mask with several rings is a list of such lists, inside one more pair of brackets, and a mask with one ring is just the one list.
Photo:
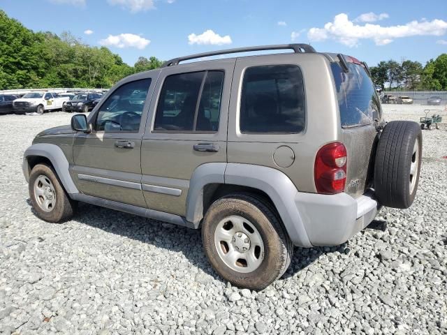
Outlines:
{"label": "front door window of the SUV, beside the side mirror", "polygon": [[[105,133],[138,132],[142,110],[151,79],[129,82],[116,89],[101,105],[96,118],[96,131]],[[135,95],[140,98],[135,101]]]}

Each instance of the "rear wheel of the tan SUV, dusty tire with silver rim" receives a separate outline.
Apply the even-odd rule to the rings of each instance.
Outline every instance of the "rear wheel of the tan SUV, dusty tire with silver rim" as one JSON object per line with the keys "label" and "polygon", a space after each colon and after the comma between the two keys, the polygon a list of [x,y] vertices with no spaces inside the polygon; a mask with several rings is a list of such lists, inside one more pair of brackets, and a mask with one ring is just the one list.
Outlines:
{"label": "rear wheel of the tan SUV, dusty tire with silver rim", "polygon": [[203,219],[202,240],[217,273],[251,290],[262,290],[281,277],[293,254],[293,244],[274,209],[243,193],[211,205]]}

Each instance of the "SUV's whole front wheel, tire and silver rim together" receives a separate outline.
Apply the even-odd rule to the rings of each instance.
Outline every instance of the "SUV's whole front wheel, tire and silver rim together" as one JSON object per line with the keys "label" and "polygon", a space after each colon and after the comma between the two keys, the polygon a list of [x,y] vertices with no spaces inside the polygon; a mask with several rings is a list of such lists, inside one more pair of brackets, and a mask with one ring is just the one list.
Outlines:
{"label": "SUV's whole front wheel, tire and silver rim together", "polygon": [[46,164],[37,164],[29,175],[29,196],[39,218],[59,223],[75,211],[76,202],[68,198],[56,172]]}

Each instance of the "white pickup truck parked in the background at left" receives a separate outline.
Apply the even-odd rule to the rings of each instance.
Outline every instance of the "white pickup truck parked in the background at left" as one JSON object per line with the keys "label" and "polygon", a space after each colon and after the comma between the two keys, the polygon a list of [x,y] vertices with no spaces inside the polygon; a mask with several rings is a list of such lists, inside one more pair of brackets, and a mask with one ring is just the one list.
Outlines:
{"label": "white pickup truck parked in the background at left", "polygon": [[43,114],[48,110],[61,110],[62,105],[69,101],[68,96],[59,96],[50,92],[30,92],[13,102],[15,114],[37,112]]}

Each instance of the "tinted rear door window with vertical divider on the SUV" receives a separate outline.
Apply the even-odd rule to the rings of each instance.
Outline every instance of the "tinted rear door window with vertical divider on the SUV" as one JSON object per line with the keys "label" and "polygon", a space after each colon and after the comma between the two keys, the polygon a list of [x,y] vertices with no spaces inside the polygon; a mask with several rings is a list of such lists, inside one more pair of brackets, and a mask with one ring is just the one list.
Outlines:
{"label": "tinted rear door window with vertical divider on the SUV", "polygon": [[154,130],[216,132],[222,87],[222,71],[166,77],[156,109]]}

